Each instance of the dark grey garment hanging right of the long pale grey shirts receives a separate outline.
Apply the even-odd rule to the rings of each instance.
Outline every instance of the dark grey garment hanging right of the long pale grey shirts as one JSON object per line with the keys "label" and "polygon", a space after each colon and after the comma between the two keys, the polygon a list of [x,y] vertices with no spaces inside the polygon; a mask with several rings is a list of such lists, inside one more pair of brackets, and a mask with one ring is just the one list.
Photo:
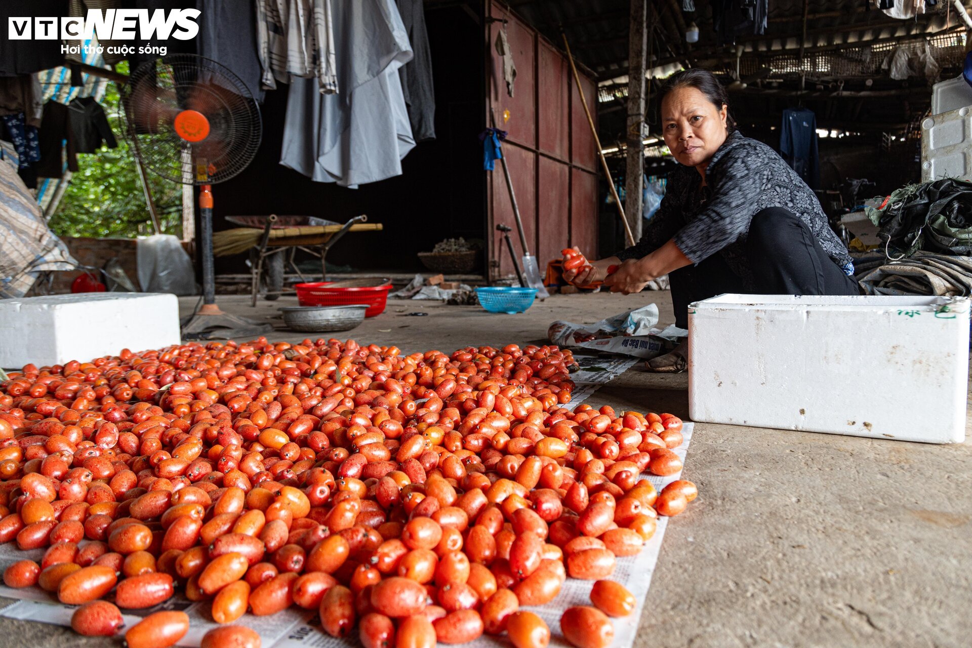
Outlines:
{"label": "dark grey garment hanging right of the long pale grey shirts", "polygon": [[414,57],[401,66],[401,89],[405,93],[408,119],[416,142],[435,139],[435,91],[432,83],[432,51],[425,24],[422,0],[399,0],[399,14],[412,45]]}

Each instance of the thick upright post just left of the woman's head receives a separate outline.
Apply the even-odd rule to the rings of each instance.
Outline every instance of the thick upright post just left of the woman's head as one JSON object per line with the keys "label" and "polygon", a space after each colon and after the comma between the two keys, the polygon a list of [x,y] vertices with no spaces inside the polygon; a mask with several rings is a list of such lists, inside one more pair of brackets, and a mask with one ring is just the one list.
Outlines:
{"label": "thick upright post just left of the woman's head", "polygon": [[631,0],[628,43],[628,151],[624,212],[635,239],[642,238],[644,179],[644,75],[647,65],[647,0]]}

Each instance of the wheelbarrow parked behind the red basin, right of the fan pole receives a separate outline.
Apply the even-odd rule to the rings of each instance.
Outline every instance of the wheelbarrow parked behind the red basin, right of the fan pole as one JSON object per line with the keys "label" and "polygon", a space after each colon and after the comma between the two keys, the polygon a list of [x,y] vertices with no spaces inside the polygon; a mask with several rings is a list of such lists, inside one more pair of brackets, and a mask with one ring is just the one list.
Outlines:
{"label": "wheelbarrow parked behind the red basin, right of the fan pole", "polygon": [[[328,280],[327,256],[330,248],[349,231],[380,231],[378,223],[365,224],[367,217],[356,216],[343,224],[312,216],[227,216],[226,221],[242,225],[214,234],[217,256],[250,250],[251,306],[257,305],[260,277],[265,267],[265,298],[280,297],[284,288],[284,271],[290,266],[300,278],[307,278],[297,267],[294,257],[298,250],[321,259],[321,281]],[[247,231],[250,230],[250,231]],[[254,231],[256,230],[256,231]],[[262,230],[262,232],[260,232]],[[222,240],[221,240],[222,239]]]}

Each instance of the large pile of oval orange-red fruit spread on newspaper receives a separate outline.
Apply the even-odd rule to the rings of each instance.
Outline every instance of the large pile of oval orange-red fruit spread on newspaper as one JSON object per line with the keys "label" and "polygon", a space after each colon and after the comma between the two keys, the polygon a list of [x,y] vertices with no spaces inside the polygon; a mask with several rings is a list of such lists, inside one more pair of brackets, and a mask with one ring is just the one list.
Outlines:
{"label": "large pile of oval orange-red fruit spread on newspaper", "polygon": [[[402,356],[263,338],[27,365],[0,384],[0,542],[46,551],[4,582],[80,605],[82,634],[183,591],[220,624],[319,609],[324,631],[357,628],[365,648],[483,632],[542,648],[549,629],[519,607],[583,578],[593,606],[561,631],[603,648],[607,615],[636,606],[606,580],[615,557],[696,489],[641,477],[681,469],[681,421],[565,409],[573,365],[556,347]],[[162,648],[188,627],[156,612],[125,639]],[[242,626],[203,640],[259,644]]]}

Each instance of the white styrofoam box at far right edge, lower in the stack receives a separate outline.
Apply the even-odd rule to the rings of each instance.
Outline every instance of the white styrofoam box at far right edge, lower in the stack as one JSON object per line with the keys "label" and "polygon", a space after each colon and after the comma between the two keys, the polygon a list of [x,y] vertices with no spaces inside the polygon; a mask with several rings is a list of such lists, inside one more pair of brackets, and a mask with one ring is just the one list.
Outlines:
{"label": "white styrofoam box at far right edge, lower in the stack", "polygon": [[972,180],[972,107],[921,121],[921,182]]}

